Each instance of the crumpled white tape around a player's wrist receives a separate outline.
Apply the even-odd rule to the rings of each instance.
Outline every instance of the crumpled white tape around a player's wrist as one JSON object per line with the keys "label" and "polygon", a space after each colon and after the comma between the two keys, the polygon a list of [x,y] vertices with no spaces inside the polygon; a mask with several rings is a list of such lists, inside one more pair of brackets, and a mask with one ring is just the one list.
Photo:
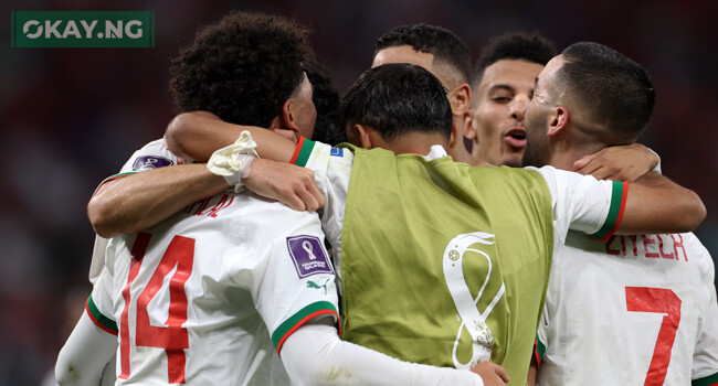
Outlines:
{"label": "crumpled white tape around a player's wrist", "polygon": [[234,186],[234,192],[239,193],[244,187],[242,179],[250,175],[252,161],[260,158],[254,149],[256,149],[256,142],[252,140],[252,135],[246,130],[242,131],[233,144],[212,153],[207,162],[207,169],[212,174],[223,176],[230,186]]}

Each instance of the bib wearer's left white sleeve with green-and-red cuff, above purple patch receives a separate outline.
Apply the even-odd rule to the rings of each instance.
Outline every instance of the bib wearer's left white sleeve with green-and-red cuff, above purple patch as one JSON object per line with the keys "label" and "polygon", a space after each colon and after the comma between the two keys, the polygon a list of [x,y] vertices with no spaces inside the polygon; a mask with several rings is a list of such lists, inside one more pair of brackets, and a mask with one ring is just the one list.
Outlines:
{"label": "bib wearer's left white sleeve with green-and-red cuff, above purple patch", "polygon": [[312,169],[317,185],[325,196],[326,204],[321,213],[321,226],[332,248],[337,275],[341,277],[341,229],[353,152],[302,137],[291,162]]}

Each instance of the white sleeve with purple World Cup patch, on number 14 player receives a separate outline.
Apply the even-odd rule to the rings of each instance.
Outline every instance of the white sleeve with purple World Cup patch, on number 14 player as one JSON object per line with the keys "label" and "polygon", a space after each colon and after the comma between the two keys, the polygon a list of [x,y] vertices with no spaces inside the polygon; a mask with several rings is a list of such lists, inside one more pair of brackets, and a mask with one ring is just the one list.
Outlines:
{"label": "white sleeve with purple World Cup patch, on number 14 player", "polygon": [[321,225],[314,214],[289,215],[295,214],[304,221],[266,247],[252,294],[277,352],[309,320],[331,318],[340,326],[335,271],[324,246]]}

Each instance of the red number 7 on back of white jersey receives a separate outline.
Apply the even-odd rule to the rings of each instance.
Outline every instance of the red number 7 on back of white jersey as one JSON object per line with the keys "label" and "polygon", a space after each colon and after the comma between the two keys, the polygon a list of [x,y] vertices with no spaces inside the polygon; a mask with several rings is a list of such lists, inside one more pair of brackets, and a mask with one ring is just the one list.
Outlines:
{"label": "red number 7 on back of white jersey", "polygon": [[626,287],[625,300],[629,311],[665,313],[656,346],[653,350],[651,366],[645,386],[663,385],[671,362],[671,350],[680,322],[680,299],[665,288]]}

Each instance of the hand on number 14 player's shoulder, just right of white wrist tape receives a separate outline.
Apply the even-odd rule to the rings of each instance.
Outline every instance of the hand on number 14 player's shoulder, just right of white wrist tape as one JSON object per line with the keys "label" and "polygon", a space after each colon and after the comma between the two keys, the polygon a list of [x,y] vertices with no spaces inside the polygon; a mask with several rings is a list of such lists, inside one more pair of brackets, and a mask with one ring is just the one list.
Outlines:
{"label": "hand on number 14 player's shoulder, just right of white wrist tape", "polygon": [[324,206],[324,195],[314,181],[314,172],[284,162],[256,159],[244,186],[267,199],[276,200],[295,211],[315,212]]}

